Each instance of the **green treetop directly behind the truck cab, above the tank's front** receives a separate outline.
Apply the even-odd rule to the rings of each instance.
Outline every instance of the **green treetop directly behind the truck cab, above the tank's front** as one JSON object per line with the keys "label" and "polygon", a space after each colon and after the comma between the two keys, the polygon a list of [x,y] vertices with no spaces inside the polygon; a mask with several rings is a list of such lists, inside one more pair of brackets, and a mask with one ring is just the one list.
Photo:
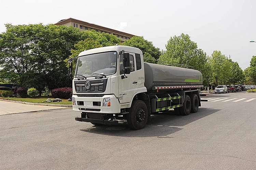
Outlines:
{"label": "green treetop directly behind the truck cab, above the tank's front", "polygon": [[[139,48],[144,58],[157,60],[161,55],[160,49],[156,48],[151,41],[145,40],[144,37],[134,36],[122,43],[122,45]],[[146,62],[150,62],[150,60],[146,60]]]}

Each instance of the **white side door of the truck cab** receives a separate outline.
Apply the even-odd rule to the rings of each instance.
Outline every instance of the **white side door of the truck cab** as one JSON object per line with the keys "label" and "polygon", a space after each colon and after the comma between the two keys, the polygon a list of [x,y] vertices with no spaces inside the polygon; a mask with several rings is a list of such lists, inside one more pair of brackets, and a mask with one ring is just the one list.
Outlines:
{"label": "white side door of the truck cab", "polygon": [[122,79],[123,74],[123,54],[119,55],[119,74],[118,74],[118,85],[119,85],[119,101],[120,103],[129,103],[132,97],[138,91],[138,78],[135,62],[135,54],[130,54],[130,74],[125,74],[127,78]]}

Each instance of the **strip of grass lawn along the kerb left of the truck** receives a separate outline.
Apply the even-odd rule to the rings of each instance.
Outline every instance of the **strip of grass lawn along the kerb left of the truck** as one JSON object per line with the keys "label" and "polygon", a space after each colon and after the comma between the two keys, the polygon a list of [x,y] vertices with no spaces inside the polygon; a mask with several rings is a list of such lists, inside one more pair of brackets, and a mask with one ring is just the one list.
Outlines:
{"label": "strip of grass lawn along the kerb left of the truck", "polygon": [[[8,100],[15,100],[15,101],[23,101],[23,102],[31,102],[31,103],[42,103],[46,99],[55,99],[52,96],[37,96],[37,97],[27,97],[27,98],[19,98],[19,97],[0,97],[0,99],[8,99]],[[72,102],[69,102],[68,99],[61,99],[62,102],[52,102],[52,103],[44,103],[44,104],[65,104],[71,105]]]}

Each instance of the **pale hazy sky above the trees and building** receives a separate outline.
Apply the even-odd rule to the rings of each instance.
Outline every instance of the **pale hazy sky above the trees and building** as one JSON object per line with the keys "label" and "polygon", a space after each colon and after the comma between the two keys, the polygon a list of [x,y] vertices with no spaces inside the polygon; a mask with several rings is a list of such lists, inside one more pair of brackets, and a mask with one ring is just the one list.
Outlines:
{"label": "pale hazy sky above the trees and building", "polygon": [[256,55],[255,9],[256,0],[0,0],[0,33],[6,23],[75,18],[143,36],[160,50],[184,33],[207,55],[221,51],[244,70]]}

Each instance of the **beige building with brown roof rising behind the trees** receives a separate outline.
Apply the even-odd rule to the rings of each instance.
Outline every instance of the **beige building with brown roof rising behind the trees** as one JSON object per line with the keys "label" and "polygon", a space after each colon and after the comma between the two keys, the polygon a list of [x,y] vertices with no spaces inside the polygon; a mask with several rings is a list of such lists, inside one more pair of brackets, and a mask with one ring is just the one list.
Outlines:
{"label": "beige building with brown roof rising behind the trees", "polygon": [[80,31],[95,30],[96,32],[100,32],[100,33],[103,33],[103,32],[112,33],[117,38],[121,39],[121,43],[123,43],[125,40],[130,39],[131,37],[135,36],[135,35],[128,34],[128,33],[122,32],[122,31],[117,31],[117,30],[113,30],[111,28],[98,26],[96,24],[88,23],[88,22],[77,20],[74,18],[62,19],[59,22],[55,23],[55,25],[64,25],[67,27],[72,26],[75,28],[79,28]]}

